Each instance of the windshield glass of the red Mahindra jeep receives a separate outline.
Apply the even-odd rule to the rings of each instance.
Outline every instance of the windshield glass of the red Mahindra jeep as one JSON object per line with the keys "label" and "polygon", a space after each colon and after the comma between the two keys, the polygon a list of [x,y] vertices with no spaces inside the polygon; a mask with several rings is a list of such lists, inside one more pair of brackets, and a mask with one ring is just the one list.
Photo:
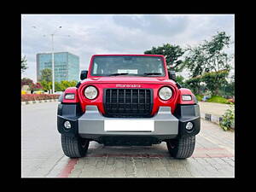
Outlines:
{"label": "windshield glass of the red Mahindra jeep", "polygon": [[109,55],[95,56],[91,76],[165,76],[160,56]]}

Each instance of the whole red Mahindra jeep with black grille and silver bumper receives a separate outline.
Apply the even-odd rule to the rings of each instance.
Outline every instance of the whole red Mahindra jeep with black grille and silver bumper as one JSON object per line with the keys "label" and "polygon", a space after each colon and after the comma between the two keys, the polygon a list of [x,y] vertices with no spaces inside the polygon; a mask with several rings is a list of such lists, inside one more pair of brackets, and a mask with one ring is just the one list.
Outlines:
{"label": "whole red Mahindra jeep with black grille and silver bumper", "polygon": [[166,142],[173,158],[189,158],[201,127],[195,95],[175,81],[164,55],[92,55],[76,87],[59,97],[57,129],[70,158],[90,141],[106,146]]}

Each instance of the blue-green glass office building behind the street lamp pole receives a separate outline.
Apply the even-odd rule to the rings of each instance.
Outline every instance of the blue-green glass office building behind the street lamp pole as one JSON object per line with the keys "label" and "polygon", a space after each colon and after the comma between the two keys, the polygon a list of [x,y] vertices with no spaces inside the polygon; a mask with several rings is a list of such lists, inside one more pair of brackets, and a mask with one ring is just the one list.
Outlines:
{"label": "blue-green glass office building behind the street lamp pole", "polygon": [[[55,60],[55,82],[62,80],[79,81],[79,56],[68,52],[54,53]],[[52,54],[37,54],[37,81],[41,78],[44,68],[52,69]]]}

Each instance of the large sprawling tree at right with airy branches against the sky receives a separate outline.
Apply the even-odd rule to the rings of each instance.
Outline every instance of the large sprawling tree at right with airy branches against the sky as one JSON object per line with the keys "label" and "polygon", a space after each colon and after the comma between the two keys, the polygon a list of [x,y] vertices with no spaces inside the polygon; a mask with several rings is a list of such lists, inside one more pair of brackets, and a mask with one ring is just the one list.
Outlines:
{"label": "large sprawling tree at right with airy branches against the sky", "polygon": [[188,83],[193,84],[194,89],[198,84],[195,77],[200,76],[201,82],[205,82],[213,94],[219,94],[219,89],[226,83],[230,73],[231,56],[224,52],[224,48],[229,47],[230,44],[230,36],[225,32],[218,32],[210,41],[205,40],[203,44],[194,48],[189,46],[186,49],[187,55],[182,66],[189,69],[193,80]]}

